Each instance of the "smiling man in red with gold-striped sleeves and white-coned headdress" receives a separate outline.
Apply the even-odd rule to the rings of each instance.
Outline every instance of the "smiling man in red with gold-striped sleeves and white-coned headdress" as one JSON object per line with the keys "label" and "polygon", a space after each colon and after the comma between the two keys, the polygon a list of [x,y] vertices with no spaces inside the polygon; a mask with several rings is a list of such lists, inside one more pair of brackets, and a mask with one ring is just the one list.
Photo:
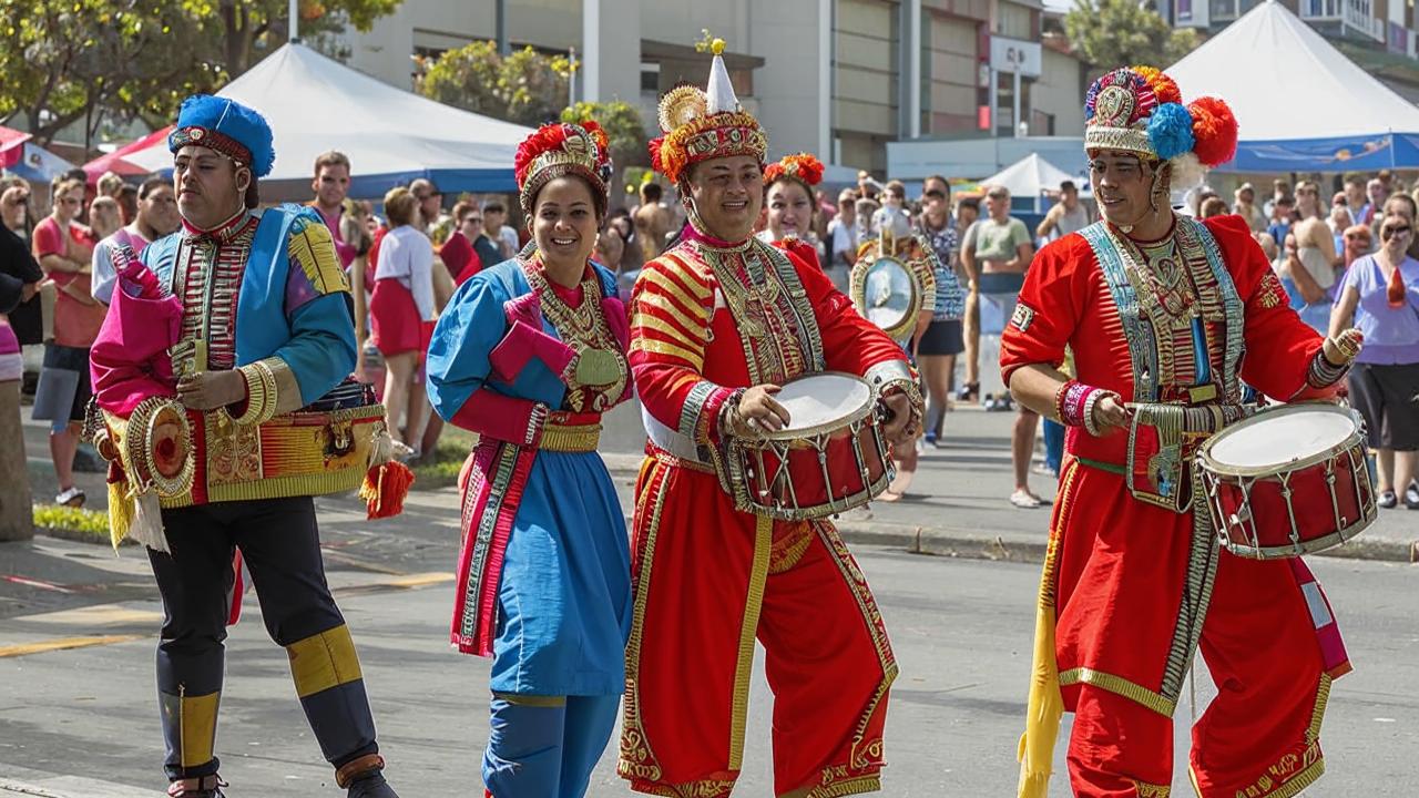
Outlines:
{"label": "smiling man in red with gold-striped sleeves and white-coned headdress", "polygon": [[897,663],[873,594],[827,521],[735,510],[724,446],[782,429],[783,382],[861,375],[914,439],[921,393],[900,346],[858,317],[812,250],[758,241],[766,139],[715,53],[710,91],[660,106],[654,163],[685,197],[681,241],[646,264],[630,364],[650,434],[636,488],[619,772],[651,795],[728,795],[744,753],[755,638],[775,694],[775,792],[876,791]]}

